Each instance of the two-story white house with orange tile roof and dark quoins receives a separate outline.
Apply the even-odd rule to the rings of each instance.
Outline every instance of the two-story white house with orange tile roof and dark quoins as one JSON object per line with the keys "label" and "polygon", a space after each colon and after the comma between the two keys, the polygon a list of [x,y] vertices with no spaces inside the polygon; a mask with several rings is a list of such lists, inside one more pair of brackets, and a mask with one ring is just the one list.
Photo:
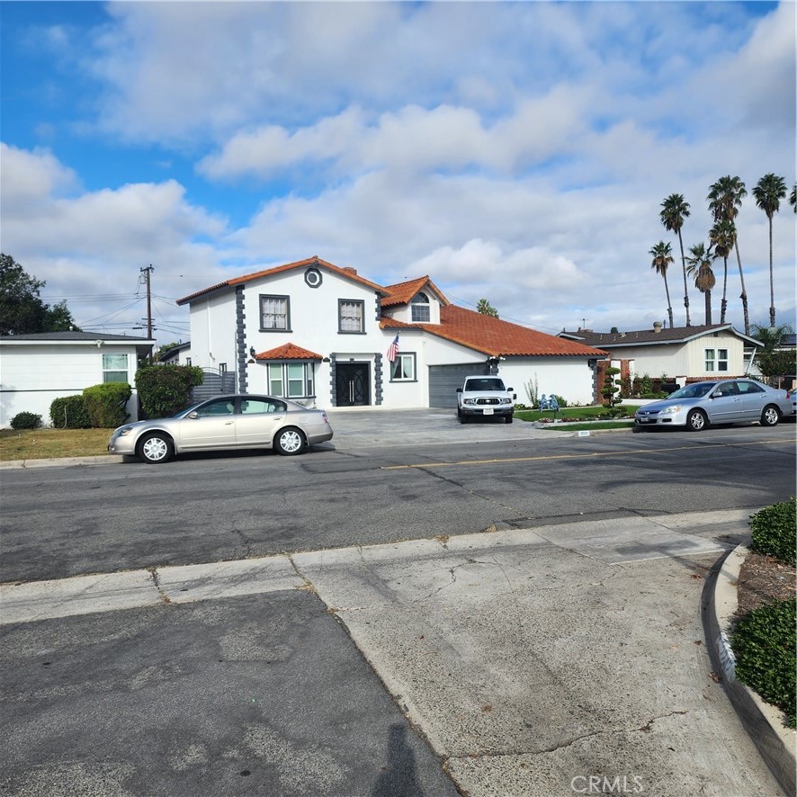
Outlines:
{"label": "two-story white house with orange tile roof and dark quoins", "polygon": [[[471,373],[591,404],[590,345],[452,305],[429,277],[382,286],[310,257],[197,291],[191,362],[234,372],[237,390],[319,407],[455,407]],[[391,344],[397,343],[395,356]]]}

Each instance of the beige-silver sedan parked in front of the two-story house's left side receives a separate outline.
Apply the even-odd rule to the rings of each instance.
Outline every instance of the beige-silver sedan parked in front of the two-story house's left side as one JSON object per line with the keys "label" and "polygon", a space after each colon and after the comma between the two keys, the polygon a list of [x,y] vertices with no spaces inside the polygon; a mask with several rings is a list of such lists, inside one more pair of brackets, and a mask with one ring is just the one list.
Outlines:
{"label": "beige-silver sedan parked in front of the two-story house's left side", "polygon": [[125,424],[108,441],[112,454],[138,457],[149,464],[184,452],[276,449],[294,456],[309,445],[332,439],[323,409],[308,409],[272,396],[216,396],[170,418]]}

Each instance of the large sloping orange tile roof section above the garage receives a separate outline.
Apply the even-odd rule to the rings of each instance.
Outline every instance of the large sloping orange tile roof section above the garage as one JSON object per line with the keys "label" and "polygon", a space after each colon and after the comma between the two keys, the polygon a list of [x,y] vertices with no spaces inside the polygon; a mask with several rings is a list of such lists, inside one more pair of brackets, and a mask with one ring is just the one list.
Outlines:
{"label": "large sloping orange tile roof section above the garage", "polygon": [[602,357],[607,354],[590,345],[546,335],[456,305],[440,309],[440,324],[414,326],[491,357]]}

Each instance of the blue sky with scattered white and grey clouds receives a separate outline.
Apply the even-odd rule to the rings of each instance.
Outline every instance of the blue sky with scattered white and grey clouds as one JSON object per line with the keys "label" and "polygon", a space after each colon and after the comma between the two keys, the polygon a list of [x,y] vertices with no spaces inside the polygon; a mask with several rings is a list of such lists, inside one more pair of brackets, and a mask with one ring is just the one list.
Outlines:
{"label": "blue sky with scattered white and grey clouds", "polygon": [[[175,300],[319,255],[555,333],[667,316],[649,249],[739,175],[753,322],[795,181],[793,3],[27,3],[2,11],[2,246],[86,329],[187,339]],[[795,215],[775,216],[794,324]],[[730,320],[742,327],[730,263]],[[714,264],[714,321],[722,263]],[[684,324],[679,258],[668,282]],[[703,296],[690,283],[693,323]]]}

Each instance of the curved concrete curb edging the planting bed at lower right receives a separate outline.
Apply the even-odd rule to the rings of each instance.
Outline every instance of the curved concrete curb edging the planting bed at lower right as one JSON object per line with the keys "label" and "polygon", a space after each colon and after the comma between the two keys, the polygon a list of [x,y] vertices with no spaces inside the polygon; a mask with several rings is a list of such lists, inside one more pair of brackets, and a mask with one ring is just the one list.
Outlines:
{"label": "curved concrete curb edging the planting bed at lower right", "polygon": [[748,552],[744,545],[739,545],[722,562],[713,589],[709,591],[704,618],[706,634],[712,662],[722,675],[722,685],[739,720],[784,793],[793,797],[797,793],[797,731],[784,726],[783,712],[765,703],[752,689],[737,680],[736,659],[730,649],[730,629],[738,606],[736,585]]}

